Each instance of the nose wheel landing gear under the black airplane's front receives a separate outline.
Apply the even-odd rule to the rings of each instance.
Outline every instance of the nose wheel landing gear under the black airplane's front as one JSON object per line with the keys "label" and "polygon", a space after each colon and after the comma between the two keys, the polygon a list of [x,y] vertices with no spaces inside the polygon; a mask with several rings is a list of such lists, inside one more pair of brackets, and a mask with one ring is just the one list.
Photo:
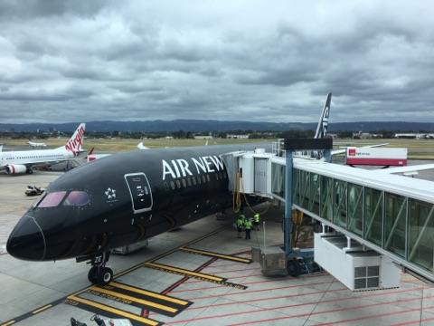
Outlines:
{"label": "nose wheel landing gear under the black airplane's front", "polygon": [[109,262],[110,252],[104,251],[100,253],[89,254],[76,258],[77,263],[90,261],[90,271],[88,273],[88,279],[91,283],[98,285],[107,285],[113,280],[113,271],[111,268],[106,267],[106,263]]}

